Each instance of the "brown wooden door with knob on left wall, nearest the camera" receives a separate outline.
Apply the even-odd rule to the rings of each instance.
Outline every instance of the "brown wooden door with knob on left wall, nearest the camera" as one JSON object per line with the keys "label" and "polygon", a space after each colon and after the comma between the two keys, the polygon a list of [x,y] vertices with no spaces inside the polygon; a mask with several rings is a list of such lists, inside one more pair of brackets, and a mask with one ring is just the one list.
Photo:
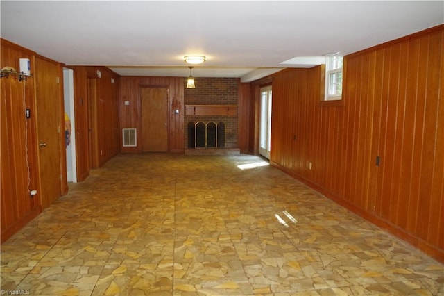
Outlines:
{"label": "brown wooden door with knob on left wall, nearest the camera", "polygon": [[37,145],[40,167],[40,199],[46,208],[61,195],[62,171],[60,150],[65,132],[62,113],[60,65],[36,58],[35,104],[37,115]]}

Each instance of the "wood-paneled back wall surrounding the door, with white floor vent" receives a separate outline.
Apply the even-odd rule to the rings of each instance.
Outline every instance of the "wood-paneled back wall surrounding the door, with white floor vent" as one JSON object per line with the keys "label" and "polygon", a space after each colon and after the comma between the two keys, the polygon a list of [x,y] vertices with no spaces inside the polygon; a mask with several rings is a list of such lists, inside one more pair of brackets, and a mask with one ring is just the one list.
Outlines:
{"label": "wood-paneled back wall surrounding the door, with white floor vent", "polygon": [[[183,77],[121,77],[120,79],[120,118],[121,129],[137,128],[141,131],[140,88],[142,87],[165,87],[168,88],[168,131],[170,152],[184,152],[184,87]],[[125,105],[128,101],[129,105]],[[175,114],[174,110],[179,110]],[[121,132],[120,132],[121,133]],[[141,152],[142,141],[137,140],[137,147],[123,147],[120,140],[122,152]]]}

